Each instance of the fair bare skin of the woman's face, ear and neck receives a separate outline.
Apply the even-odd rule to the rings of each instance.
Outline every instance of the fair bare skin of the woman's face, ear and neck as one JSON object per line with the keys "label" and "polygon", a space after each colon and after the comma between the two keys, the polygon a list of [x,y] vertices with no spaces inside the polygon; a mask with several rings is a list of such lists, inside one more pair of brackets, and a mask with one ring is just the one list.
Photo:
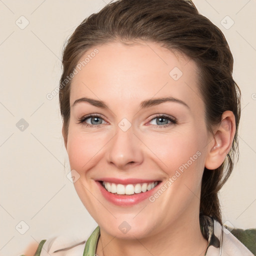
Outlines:
{"label": "fair bare skin of the woman's face, ear and neck", "polygon": [[[98,45],[84,56],[94,48],[99,52],[73,77],[68,135],[62,132],[70,167],[80,175],[74,182],[76,192],[100,226],[96,253],[203,255],[207,241],[199,227],[201,177],[204,166],[217,168],[230,150],[233,113],[222,114],[213,134],[207,130],[198,69],[182,54],[139,41]],[[178,80],[169,75],[174,67],[183,73]],[[104,101],[107,107],[88,102],[73,105],[81,97]],[[160,97],[184,104],[166,101],[139,108],[141,101]],[[89,114],[98,116],[99,126],[84,125],[95,125],[93,118],[78,123]],[[162,114],[174,117],[176,123],[165,119],[163,124],[168,126],[161,127]],[[126,131],[118,126],[123,118],[131,124]],[[95,184],[100,177],[147,178],[163,184],[196,152],[200,156],[153,202],[145,199],[129,207],[117,206]],[[118,228],[123,221],[131,227],[125,234]]]}

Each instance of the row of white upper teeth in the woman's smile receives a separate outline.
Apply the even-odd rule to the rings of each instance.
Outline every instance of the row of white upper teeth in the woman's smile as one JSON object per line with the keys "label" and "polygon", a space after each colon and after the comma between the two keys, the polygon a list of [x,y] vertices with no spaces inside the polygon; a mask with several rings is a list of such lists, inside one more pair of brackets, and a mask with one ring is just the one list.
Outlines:
{"label": "row of white upper teeth in the woman's smile", "polygon": [[153,182],[147,182],[147,183],[136,183],[136,184],[116,184],[112,182],[106,182],[106,181],[100,181],[101,185],[110,193],[113,194],[138,194],[138,193],[144,193],[148,190],[151,190],[155,186],[157,186],[160,181],[153,181]]}

